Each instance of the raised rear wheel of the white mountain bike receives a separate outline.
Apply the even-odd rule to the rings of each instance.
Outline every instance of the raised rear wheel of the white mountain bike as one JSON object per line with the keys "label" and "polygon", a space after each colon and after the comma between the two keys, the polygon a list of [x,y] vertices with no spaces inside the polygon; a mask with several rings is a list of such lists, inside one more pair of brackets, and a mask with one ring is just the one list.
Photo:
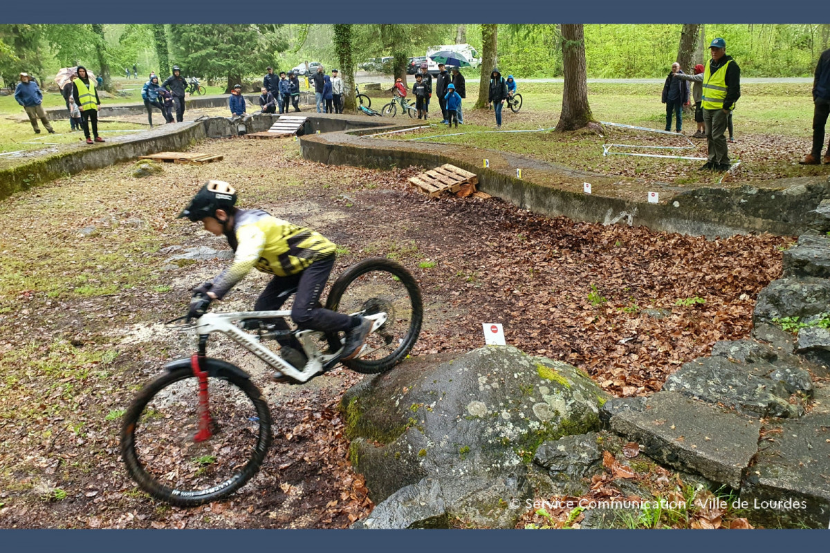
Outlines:
{"label": "raised rear wheel of the white mountain bike", "polygon": [[[364,354],[345,366],[364,374],[388,371],[403,361],[421,333],[421,289],[407,269],[383,257],[369,258],[346,269],[334,281],[325,308],[340,313],[386,313],[383,326],[369,334]],[[339,341],[337,337],[330,337]]]}

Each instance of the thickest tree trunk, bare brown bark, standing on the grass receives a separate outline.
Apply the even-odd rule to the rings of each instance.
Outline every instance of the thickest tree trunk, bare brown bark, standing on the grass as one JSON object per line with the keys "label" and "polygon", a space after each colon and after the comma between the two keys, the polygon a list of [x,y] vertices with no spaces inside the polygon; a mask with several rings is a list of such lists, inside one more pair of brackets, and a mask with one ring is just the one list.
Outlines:
{"label": "thickest tree trunk, bare brown bark, standing on the grass", "polygon": [[588,71],[585,66],[585,36],[582,24],[562,25],[562,65],[564,90],[562,113],[556,130],[582,129],[595,123],[588,105]]}

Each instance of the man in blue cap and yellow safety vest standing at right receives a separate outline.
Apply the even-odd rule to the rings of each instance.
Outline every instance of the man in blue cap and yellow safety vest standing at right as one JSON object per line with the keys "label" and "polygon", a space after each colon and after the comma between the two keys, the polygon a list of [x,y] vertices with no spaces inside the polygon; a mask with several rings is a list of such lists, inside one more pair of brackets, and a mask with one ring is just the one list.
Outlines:
{"label": "man in blue cap and yellow safety vest standing at right", "polygon": [[715,38],[709,45],[711,59],[703,71],[703,123],[709,145],[709,160],[701,171],[728,171],[729,148],[724,136],[730,113],[740,98],[740,67],[726,56],[726,41]]}

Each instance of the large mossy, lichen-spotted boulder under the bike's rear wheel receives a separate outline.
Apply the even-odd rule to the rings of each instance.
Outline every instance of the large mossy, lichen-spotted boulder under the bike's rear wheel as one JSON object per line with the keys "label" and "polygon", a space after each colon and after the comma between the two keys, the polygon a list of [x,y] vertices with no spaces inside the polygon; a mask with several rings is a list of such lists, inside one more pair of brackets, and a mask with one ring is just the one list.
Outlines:
{"label": "large mossy, lichen-spotted boulder under the bike's rear wheel", "polygon": [[397,513],[378,515],[371,526],[441,520],[440,509],[421,502],[414,503],[425,515],[403,515],[399,507],[413,497],[431,497],[448,517],[474,526],[515,526],[521,512],[506,507],[532,496],[530,466],[540,444],[598,429],[607,399],[574,366],[515,347],[405,364],[362,381],[341,404],[350,460],[376,509]]}

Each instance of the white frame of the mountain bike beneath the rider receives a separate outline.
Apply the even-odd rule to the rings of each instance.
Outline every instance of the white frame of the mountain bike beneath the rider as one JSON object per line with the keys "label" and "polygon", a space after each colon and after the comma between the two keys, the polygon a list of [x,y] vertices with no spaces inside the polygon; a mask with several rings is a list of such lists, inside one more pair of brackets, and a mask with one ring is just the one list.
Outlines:
{"label": "white frame of the mountain bike beneath the rider", "polygon": [[[295,332],[294,335],[305,350],[305,356],[308,357],[308,362],[305,366],[298,369],[286,362],[282,357],[275,352],[262,345],[262,342],[254,334],[249,334],[234,324],[235,321],[243,321],[250,318],[291,318],[291,311],[239,311],[236,313],[205,313],[196,321],[196,333],[199,336],[207,336],[212,332],[222,332],[225,336],[231,338],[242,347],[265,361],[268,365],[274,367],[282,374],[291,377],[298,382],[306,382],[312,376],[322,372],[330,361],[334,361],[340,357],[343,352],[341,347],[337,352],[330,355],[324,355],[317,348],[314,335],[322,335],[323,332],[316,330],[301,330]],[[374,315],[364,315],[364,318],[372,321],[372,330],[369,333],[376,331],[379,327],[386,323],[386,313],[375,313]],[[361,350],[363,354],[366,350]]]}

